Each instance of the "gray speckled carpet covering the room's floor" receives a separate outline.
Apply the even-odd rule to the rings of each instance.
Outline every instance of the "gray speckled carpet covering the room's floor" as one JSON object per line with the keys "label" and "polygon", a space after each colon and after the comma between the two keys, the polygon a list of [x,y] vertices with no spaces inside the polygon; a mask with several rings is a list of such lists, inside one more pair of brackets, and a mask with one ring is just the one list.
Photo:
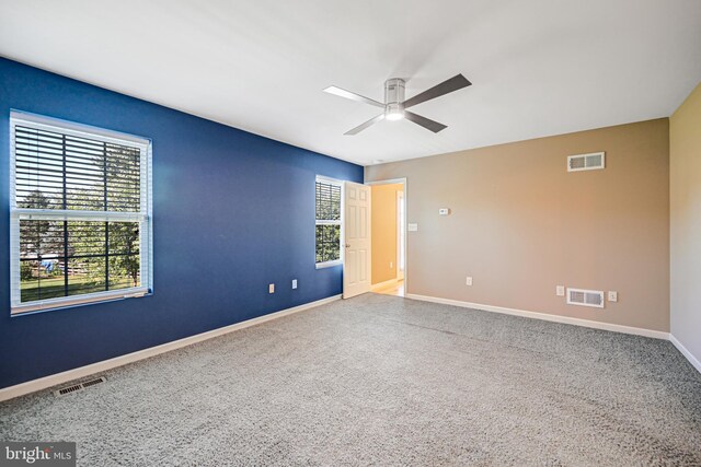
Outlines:
{"label": "gray speckled carpet covering the room's floor", "polygon": [[79,465],[701,465],[669,343],[366,294],[0,405]]}

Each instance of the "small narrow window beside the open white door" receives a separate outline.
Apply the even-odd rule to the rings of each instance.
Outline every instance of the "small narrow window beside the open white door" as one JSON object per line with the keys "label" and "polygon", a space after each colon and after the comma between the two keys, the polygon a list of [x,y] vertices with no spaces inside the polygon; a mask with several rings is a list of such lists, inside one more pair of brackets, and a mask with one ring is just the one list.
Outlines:
{"label": "small narrow window beside the open white door", "polygon": [[317,267],[341,264],[341,187],[317,177]]}

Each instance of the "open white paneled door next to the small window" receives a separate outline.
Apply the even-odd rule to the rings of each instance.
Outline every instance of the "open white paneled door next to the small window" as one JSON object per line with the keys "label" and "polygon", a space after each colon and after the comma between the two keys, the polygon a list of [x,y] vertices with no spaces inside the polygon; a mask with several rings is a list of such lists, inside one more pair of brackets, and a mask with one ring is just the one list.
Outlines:
{"label": "open white paneled door next to the small window", "polygon": [[345,183],[343,297],[370,291],[370,187]]}

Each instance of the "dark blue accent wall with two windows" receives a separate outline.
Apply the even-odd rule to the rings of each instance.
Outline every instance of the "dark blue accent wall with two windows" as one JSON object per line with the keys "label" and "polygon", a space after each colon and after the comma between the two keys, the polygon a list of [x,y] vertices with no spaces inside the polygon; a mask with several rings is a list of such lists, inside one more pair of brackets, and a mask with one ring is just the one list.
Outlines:
{"label": "dark blue accent wall with two windows", "polygon": [[[153,141],[153,295],[10,316],[10,109]],[[314,267],[318,174],[363,182],[361,166],[0,58],[0,387],[341,293],[341,267]]]}

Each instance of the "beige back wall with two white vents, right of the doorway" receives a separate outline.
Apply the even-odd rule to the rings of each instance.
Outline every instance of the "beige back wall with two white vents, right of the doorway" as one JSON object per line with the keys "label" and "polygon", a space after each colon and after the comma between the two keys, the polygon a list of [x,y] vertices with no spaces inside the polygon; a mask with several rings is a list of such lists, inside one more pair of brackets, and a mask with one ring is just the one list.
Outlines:
{"label": "beige back wall with two white vents, right of the doorway", "polygon": [[[606,170],[566,172],[596,151]],[[366,182],[399,177],[418,223],[407,293],[668,330],[668,119],[366,167]],[[558,284],[619,302],[566,305]]]}

